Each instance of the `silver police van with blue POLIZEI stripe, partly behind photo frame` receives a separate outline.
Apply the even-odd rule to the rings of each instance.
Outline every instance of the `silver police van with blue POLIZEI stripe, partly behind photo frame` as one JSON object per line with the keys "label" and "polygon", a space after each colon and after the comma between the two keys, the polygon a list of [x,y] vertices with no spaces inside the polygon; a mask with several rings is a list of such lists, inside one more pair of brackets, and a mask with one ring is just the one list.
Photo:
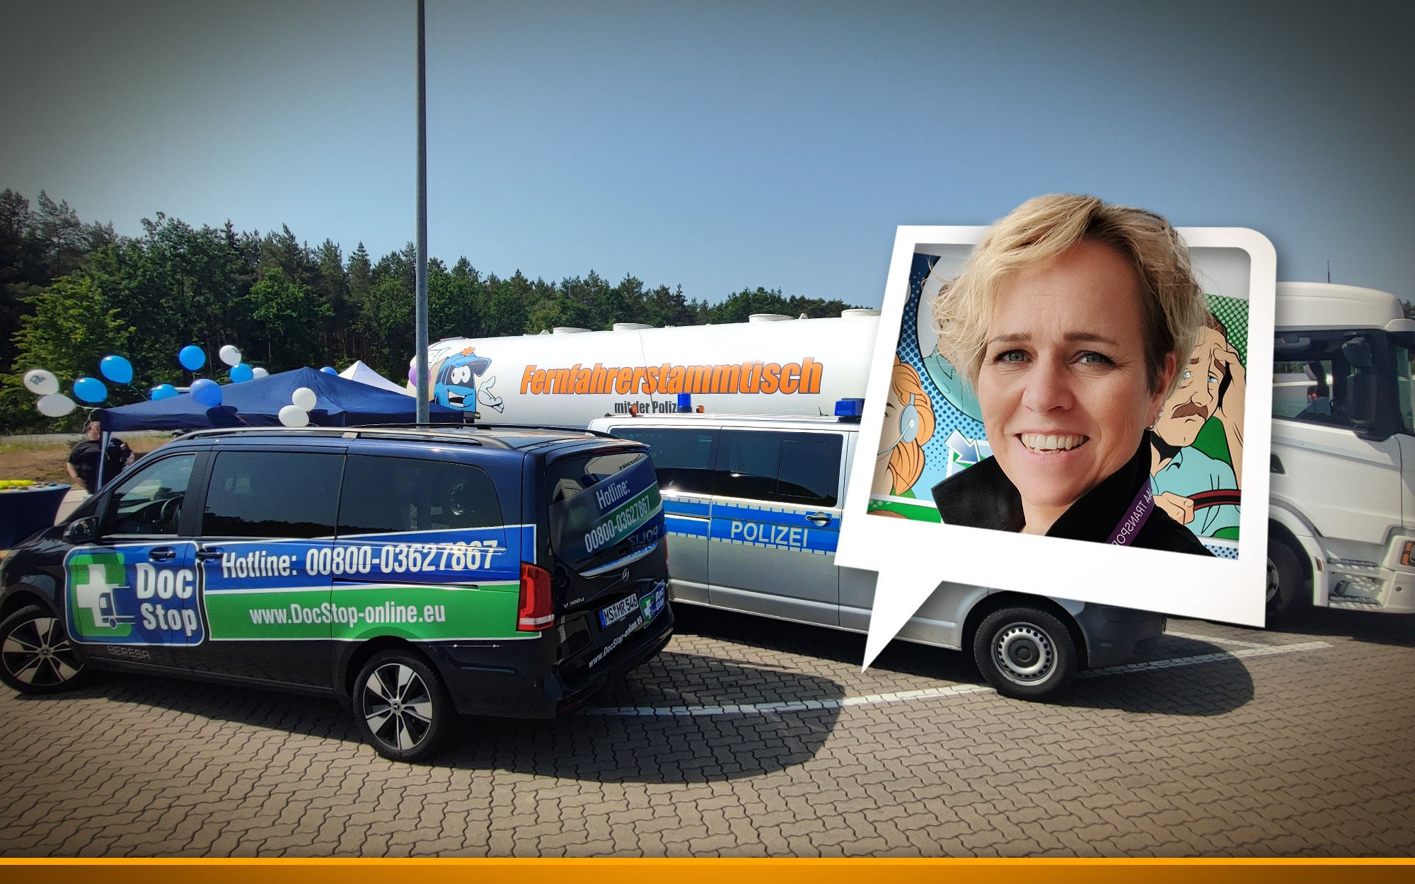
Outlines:
{"label": "silver police van with blue POLIZEI stripe, partly behind photo frame", "polygon": [[[869,631],[874,573],[835,564],[857,417],[678,413],[590,427],[652,447],[674,603]],[[1080,668],[1148,653],[1163,631],[1152,611],[944,583],[897,638],[971,649],[999,693],[1043,697]]]}

